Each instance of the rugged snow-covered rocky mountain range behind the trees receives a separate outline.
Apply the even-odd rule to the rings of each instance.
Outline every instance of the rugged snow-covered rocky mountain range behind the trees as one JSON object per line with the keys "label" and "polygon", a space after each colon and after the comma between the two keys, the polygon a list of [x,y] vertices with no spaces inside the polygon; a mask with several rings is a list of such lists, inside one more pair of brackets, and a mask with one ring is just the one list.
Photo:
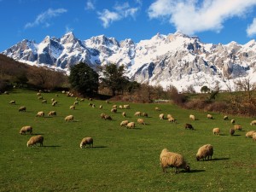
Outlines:
{"label": "rugged snow-covered rocky mountain range behind the trees", "polygon": [[[139,83],[170,84],[178,90],[193,85],[220,84],[227,79],[250,78],[256,82],[256,42],[241,45],[203,44],[198,37],[183,33],[161,35],[135,44],[131,39],[117,41],[104,35],[81,41],[68,32],[62,38],[49,38],[36,44],[23,40],[2,53],[17,61],[68,69],[86,62],[91,67],[116,63],[125,66],[125,75]],[[228,80],[230,81],[230,80]]]}

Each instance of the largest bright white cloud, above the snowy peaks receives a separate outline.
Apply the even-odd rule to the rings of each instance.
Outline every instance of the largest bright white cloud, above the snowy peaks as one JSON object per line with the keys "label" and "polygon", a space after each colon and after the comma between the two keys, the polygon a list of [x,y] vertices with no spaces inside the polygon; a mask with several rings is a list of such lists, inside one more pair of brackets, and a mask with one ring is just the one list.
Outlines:
{"label": "largest bright white cloud, above the snowy peaks", "polygon": [[148,9],[150,19],[168,19],[177,31],[219,32],[225,20],[244,16],[256,5],[255,0],[156,0]]}

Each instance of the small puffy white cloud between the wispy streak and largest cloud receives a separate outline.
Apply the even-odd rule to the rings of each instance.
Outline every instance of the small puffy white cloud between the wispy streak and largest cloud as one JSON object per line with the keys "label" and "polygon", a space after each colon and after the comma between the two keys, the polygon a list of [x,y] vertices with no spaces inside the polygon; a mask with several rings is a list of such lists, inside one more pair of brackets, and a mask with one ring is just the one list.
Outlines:
{"label": "small puffy white cloud between the wispy streak and largest cloud", "polygon": [[127,17],[135,19],[139,8],[131,8],[129,3],[116,4],[113,7],[114,11],[104,9],[102,12],[98,12],[99,19],[102,20],[102,25],[107,28],[113,21],[122,20]]}

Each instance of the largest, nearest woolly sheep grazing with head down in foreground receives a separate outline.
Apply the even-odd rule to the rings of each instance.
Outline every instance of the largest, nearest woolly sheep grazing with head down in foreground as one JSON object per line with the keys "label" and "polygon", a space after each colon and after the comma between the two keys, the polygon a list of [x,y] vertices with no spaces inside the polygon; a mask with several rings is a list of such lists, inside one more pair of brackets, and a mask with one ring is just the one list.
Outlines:
{"label": "largest, nearest woolly sheep grazing with head down in foreground", "polygon": [[190,172],[190,167],[184,160],[183,155],[169,152],[164,148],[160,154],[160,166],[163,172],[166,172],[166,168],[174,167],[175,173],[177,173],[179,168],[183,168],[186,172]]}

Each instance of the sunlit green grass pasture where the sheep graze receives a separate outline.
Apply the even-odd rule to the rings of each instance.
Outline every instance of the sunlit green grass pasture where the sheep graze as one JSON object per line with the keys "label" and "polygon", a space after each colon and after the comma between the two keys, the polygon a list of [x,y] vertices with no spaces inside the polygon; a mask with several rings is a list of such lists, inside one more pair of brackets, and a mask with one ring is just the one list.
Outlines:
{"label": "sunlit green grass pasture where the sheep graze", "polygon": [[[256,179],[256,142],[245,138],[251,118],[232,116],[243,125],[243,131],[229,136],[230,121],[224,114],[184,110],[171,104],[135,104],[131,109],[110,113],[113,104],[92,101],[80,102],[76,110],[69,106],[75,101],[58,93],[44,93],[47,104],[38,101],[36,92],[15,90],[0,95],[0,191],[254,191]],[[54,97],[59,104],[52,107]],[[9,101],[15,100],[15,105]],[[103,105],[99,109],[99,105]],[[18,108],[26,106],[26,113]],[[160,107],[161,111],[154,111]],[[57,112],[56,117],[37,118],[38,111]],[[121,113],[125,111],[127,118]],[[123,119],[137,121],[136,111],[147,112],[147,125],[128,130],[120,127]],[[100,119],[108,113],[112,121]],[[171,113],[177,124],[160,120],[160,113]],[[194,113],[197,120],[189,120]],[[73,114],[74,122],[64,118]],[[195,131],[185,130],[191,123]],[[32,125],[34,134],[44,136],[44,147],[27,148],[30,135],[20,135],[23,125]],[[221,136],[213,136],[212,128],[219,127]],[[79,148],[83,137],[94,138],[94,148]],[[213,160],[196,161],[201,145],[211,143]],[[163,173],[159,156],[163,148],[183,154],[191,172],[175,174],[172,169]]]}

